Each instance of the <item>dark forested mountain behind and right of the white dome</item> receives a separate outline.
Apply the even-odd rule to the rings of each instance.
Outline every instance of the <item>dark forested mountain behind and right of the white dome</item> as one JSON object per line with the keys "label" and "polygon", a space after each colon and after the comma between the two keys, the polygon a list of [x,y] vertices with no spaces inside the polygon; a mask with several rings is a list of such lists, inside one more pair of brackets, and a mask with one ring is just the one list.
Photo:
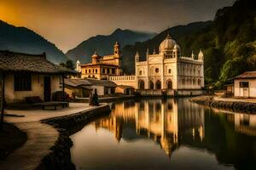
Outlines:
{"label": "dark forested mountain behind and right of the white dome", "polygon": [[[256,3],[251,0],[237,0],[231,7],[218,9],[213,21],[173,27],[170,33],[180,45],[182,55],[202,50],[207,85],[223,88],[230,78],[256,70]],[[152,53],[165,37],[163,31],[147,42],[123,48],[124,70],[132,73],[136,51],[144,56],[149,48]]]}

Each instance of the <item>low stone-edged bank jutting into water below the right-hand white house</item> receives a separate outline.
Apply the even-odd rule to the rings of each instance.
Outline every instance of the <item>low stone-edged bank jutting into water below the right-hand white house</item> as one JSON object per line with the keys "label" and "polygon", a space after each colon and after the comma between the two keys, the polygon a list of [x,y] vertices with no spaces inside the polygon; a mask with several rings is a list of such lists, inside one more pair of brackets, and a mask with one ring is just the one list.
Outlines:
{"label": "low stone-edged bank jutting into water below the right-hand white house", "polygon": [[235,111],[241,113],[256,113],[255,99],[233,99],[233,98],[219,98],[216,96],[197,96],[190,99],[200,105],[207,105],[212,108],[218,108],[226,111]]}

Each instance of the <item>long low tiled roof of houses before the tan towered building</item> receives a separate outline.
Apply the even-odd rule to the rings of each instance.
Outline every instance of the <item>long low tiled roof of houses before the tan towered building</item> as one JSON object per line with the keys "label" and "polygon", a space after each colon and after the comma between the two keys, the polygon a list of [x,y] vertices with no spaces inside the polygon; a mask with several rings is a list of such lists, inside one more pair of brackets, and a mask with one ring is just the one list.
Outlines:
{"label": "long low tiled roof of houses before the tan towered building", "polygon": [[65,84],[73,87],[79,86],[104,86],[109,88],[117,87],[116,83],[109,80],[96,80],[96,79],[65,79]]}

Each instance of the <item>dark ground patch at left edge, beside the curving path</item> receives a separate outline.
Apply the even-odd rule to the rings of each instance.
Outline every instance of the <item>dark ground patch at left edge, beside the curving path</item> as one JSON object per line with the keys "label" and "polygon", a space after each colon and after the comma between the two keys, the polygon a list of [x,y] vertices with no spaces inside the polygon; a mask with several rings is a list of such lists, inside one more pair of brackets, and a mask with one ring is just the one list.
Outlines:
{"label": "dark ground patch at left edge, beside the curving path", "polygon": [[3,131],[0,131],[0,161],[4,161],[9,154],[25,144],[26,133],[10,123],[3,123]]}

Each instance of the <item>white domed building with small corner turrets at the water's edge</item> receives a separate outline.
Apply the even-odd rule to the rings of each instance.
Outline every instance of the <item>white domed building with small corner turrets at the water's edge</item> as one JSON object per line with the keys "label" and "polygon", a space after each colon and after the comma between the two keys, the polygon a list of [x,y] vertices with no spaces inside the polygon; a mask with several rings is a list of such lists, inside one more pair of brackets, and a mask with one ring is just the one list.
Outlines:
{"label": "white domed building with small corner turrets at the water's edge", "polygon": [[140,61],[135,56],[135,82],[141,94],[158,95],[163,90],[167,94],[180,95],[201,94],[204,88],[204,63],[200,51],[198,57],[181,56],[181,49],[168,34],[160,43],[159,53],[147,52],[147,59]]}

